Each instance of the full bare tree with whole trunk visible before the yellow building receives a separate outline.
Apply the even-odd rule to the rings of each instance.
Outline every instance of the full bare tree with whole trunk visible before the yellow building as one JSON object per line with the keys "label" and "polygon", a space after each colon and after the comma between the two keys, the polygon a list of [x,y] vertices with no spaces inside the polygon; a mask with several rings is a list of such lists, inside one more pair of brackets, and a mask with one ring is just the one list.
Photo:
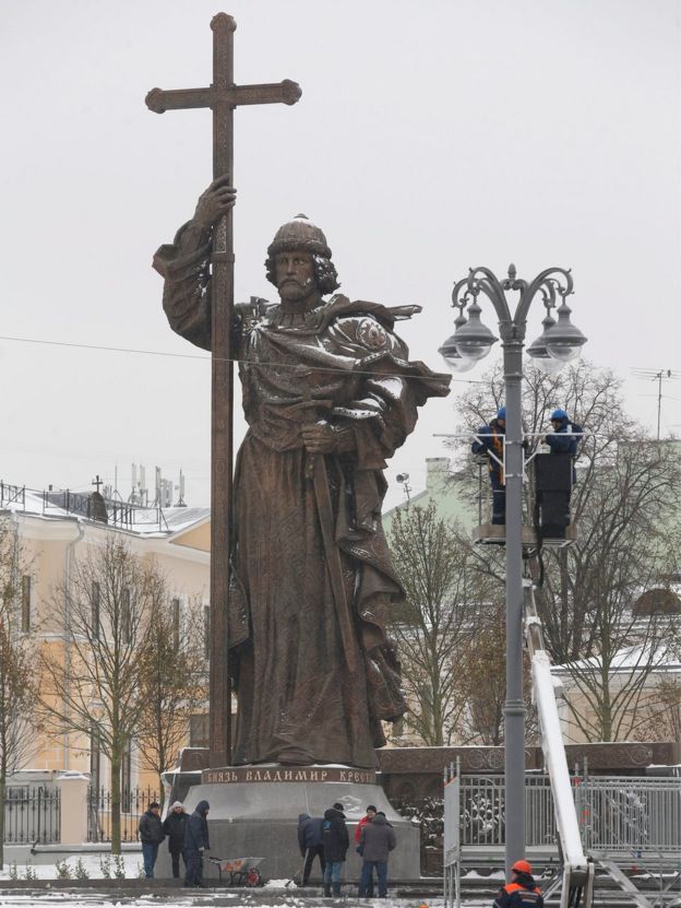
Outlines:
{"label": "full bare tree with whole trunk visible before the yellow building", "polygon": [[111,850],[120,853],[121,767],[145,707],[145,660],[157,644],[152,616],[159,582],[153,563],[109,535],[75,562],[55,598],[69,649],[41,650],[40,704],[57,733],[80,732],[110,762]]}

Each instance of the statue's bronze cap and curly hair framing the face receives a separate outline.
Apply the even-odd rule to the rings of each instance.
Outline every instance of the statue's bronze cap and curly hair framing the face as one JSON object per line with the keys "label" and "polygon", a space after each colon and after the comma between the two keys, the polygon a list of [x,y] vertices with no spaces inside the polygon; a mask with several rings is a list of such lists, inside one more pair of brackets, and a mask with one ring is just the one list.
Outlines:
{"label": "statue's bronze cap and curly hair framing the face", "polygon": [[[309,262],[309,270],[313,276],[316,290],[321,296],[333,293],[339,285],[338,274],[331,261],[331,249],[326,237],[315,224],[312,224],[304,214],[298,214],[292,221],[283,224],[276,232],[274,239],[267,247],[265,269],[267,280],[273,283],[279,292],[282,260],[287,258],[286,253],[299,253],[299,263],[302,259]],[[277,276],[277,258],[279,260],[279,276]]]}

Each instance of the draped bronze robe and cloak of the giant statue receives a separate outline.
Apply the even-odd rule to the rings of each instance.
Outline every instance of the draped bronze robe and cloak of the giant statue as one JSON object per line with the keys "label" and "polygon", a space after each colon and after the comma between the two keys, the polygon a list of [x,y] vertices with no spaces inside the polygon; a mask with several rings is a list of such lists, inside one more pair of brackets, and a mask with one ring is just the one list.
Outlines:
{"label": "draped bronze robe and cloak of the giant statue", "polygon": [[[171,328],[211,349],[210,247],[190,222],[155,267]],[[236,764],[377,765],[382,719],[406,705],[385,623],[403,591],[381,526],[382,470],[417,408],[449,377],[409,363],[395,314],[332,298],[304,315],[279,306],[241,318],[236,347],[249,431],[235,476],[230,668],[238,691]],[[355,449],[325,455],[333,538],[351,611],[356,670],[342,641],[304,424],[349,427]]]}

